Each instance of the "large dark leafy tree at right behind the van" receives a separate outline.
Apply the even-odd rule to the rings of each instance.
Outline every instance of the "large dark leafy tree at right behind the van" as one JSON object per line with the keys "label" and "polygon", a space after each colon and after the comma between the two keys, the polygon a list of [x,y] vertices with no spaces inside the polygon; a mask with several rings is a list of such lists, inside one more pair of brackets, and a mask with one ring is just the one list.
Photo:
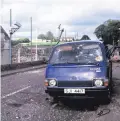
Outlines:
{"label": "large dark leafy tree at right behind the van", "polygon": [[101,38],[105,44],[112,44],[113,40],[115,44],[118,44],[120,37],[119,28],[119,20],[107,20],[95,29],[94,34],[97,38]]}

